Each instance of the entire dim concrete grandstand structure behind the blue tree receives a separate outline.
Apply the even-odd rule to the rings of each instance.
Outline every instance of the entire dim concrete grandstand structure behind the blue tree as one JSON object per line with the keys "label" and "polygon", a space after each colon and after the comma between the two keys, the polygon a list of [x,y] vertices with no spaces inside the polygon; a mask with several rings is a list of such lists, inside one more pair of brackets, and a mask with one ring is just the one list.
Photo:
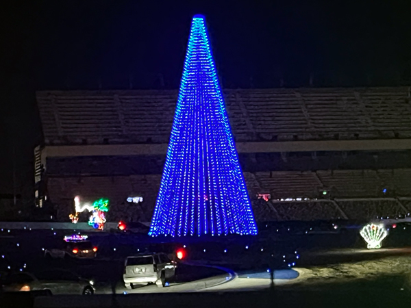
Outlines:
{"label": "entire dim concrete grandstand structure behind the blue tree", "polygon": [[[256,218],[368,220],[411,211],[411,89],[225,90]],[[36,204],[67,221],[74,196],[149,221],[174,90],[41,91]],[[127,197],[142,196],[142,203]]]}

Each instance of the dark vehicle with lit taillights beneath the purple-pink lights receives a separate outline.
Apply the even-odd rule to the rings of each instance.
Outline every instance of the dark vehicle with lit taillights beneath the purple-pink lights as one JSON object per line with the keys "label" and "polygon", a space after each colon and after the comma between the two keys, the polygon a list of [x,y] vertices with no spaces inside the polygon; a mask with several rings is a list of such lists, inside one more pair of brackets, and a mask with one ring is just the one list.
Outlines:
{"label": "dark vehicle with lit taillights beneath the purple-pink lights", "polygon": [[95,258],[97,246],[92,246],[90,241],[64,242],[62,248],[51,248],[45,250],[45,257],[53,259],[74,257],[78,259]]}

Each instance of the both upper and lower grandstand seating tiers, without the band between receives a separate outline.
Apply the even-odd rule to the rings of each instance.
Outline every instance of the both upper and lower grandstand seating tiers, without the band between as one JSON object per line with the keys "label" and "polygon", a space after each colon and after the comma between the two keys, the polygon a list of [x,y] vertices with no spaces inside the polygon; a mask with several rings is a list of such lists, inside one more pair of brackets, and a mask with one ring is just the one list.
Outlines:
{"label": "both upper and lower grandstand seating tiers, without the band between", "polygon": [[[237,142],[411,138],[408,87],[248,89],[224,94]],[[44,140],[50,146],[167,143],[176,101],[177,91],[171,90],[37,92]],[[68,219],[76,195],[85,196],[85,201],[110,198],[112,221],[151,219],[161,180],[159,157],[147,158],[138,172],[133,162],[127,165],[119,159],[64,159],[47,162],[47,191],[60,220]],[[410,168],[350,164],[351,169],[364,169],[323,170],[327,167],[318,165],[306,171],[270,167],[244,172],[256,218],[363,220],[410,211]],[[133,195],[144,201],[127,203]]]}

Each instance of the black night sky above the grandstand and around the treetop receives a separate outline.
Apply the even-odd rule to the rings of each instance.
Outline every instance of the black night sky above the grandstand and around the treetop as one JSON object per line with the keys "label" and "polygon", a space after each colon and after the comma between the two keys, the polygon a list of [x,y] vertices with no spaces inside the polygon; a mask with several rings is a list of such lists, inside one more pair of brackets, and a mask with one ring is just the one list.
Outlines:
{"label": "black night sky above the grandstand and around the treetop", "polygon": [[[178,88],[193,14],[225,88],[411,84],[409,1],[8,1],[0,193],[32,179],[36,90]],[[28,184],[27,184],[28,183]]]}

